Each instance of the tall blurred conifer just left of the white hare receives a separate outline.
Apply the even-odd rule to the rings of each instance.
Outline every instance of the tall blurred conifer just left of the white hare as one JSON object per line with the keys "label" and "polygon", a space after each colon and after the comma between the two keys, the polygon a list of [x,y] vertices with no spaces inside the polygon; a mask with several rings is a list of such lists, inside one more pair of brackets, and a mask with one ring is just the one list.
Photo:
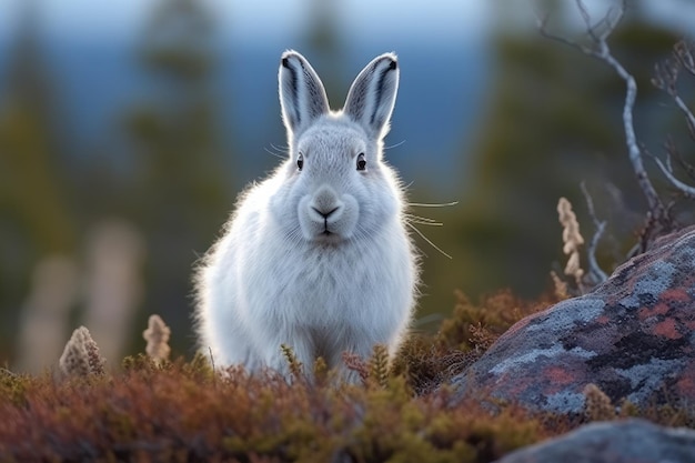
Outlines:
{"label": "tall blurred conifer just left of the white hare", "polygon": [[213,242],[235,191],[219,135],[212,26],[201,1],[159,3],[140,46],[148,101],[125,118],[138,172],[132,207],[148,241],[142,320],[161,314],[183,352],[192,344],[193,263]]}

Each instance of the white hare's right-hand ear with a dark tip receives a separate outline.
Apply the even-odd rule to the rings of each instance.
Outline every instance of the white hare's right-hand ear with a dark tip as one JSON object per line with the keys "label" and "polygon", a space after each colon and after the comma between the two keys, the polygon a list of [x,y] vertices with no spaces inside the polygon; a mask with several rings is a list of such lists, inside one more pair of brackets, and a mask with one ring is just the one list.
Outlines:
{"label": "white hare's right-hand ear with a dark tip", "polygon": [[385,135],[399,91],[399,61],[394,53],[374,58],[348,92],[344,112],[374,138]]}

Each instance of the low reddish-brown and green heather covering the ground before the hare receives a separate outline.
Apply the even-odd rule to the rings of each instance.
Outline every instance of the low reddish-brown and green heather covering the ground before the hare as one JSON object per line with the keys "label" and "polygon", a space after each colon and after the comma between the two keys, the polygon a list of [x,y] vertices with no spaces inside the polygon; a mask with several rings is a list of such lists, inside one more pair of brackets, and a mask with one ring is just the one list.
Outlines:
{"label": "low reddish-brown and green heather covering the ground before the hare", "polygon": [[[272,371],[215,371],[204,354],[143,353],[85,375],[3,369],[0,460],[490,462],[586,421],[644,416],[693,425],[677,406],[614,406],[596,386],[585,391],[585,415],[572,420],[481,397],[453,405],[446,380],[544,306],[508,291],[480,304],[461,295],[437,334],[411,335],[393,362],[384,346],[370,359],[346,354],[356,384],[340,383],[321,359],[294,365],[291,382]],[[284,349],[288,362],[295,361]]]}

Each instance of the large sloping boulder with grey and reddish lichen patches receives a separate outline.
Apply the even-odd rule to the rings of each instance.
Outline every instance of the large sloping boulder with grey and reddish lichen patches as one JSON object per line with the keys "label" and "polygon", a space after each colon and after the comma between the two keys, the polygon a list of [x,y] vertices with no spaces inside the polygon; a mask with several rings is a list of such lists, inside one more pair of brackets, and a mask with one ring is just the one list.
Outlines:
{"label": "large sloping boulder with grey and reddish lichen patches", "polygon": [[558,413],[581,413],[590,383],[614,404],[695,404],[695,228],[657,240],[591,293],[521,320],[453,380],[456,399]]}

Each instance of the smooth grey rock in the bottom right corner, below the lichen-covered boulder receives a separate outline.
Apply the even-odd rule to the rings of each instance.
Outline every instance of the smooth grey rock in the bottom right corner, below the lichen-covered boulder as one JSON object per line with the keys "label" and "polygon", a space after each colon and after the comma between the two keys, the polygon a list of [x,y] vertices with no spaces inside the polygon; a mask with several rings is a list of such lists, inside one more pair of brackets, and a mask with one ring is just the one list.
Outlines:
{"label": "smooth grey rock in the bottom right corner, below the lichen-covered boulder", "polygon": [[586,424],[512,452],[497,463],[685,463],[695,461],[695,431],[645,420]]}

